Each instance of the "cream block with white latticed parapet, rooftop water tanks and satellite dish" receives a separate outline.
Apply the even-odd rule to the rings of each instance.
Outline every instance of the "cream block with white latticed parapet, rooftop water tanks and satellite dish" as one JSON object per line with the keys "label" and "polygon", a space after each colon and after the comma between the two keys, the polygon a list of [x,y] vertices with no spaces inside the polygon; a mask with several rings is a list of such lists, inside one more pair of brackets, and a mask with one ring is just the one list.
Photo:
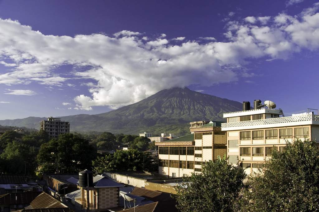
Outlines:
{"label": "cream block with white latticed parapet, rooftop water tanks and satellite dish", "polygon": [[243,106],[243,111],[224,113],[227,123],[221,124],[221,130],[227,132],[229,164],[243,167],[247,174],[263,167],[273,148],[281,151],[294,139],[319,140],[319,115],[284,117],[281,109],[254,105],[254,109]]}

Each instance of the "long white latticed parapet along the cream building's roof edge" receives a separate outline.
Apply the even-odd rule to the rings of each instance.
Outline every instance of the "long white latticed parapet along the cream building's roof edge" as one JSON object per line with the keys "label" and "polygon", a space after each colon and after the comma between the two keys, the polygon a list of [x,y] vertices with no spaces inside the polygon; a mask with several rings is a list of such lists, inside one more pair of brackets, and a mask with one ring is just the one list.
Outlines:
{"label": "long white latticed parapet along the cream building's roof edge", "polygon": [[272,119],[222,123],[223,131],[319,124],[319,115],[305,114]]}

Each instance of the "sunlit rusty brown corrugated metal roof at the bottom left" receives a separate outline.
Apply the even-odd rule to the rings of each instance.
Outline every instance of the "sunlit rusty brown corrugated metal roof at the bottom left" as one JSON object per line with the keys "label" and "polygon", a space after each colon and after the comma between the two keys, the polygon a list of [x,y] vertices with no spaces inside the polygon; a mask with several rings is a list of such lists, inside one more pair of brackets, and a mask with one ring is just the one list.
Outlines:
{"label": "sunlit rusty brown corrugated metal roof at the bottom left", "polygon": [[53,198],[51,195],[42,192],[30,203],[30,206],[26,207],[26,209],[41,208],[67,208],[67,206]]}

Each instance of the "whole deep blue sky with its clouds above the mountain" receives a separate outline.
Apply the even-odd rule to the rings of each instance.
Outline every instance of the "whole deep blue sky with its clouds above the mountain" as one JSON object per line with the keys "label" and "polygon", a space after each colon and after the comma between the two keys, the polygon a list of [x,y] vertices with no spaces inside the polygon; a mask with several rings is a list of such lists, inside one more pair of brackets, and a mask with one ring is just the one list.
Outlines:
{"label": "whole deep blue sky with its clouds above the mountain", "polygon": [[0,0],[0,119],[103,113],[183,86],[287,115],[319,108],[318,12],[312,0]]}

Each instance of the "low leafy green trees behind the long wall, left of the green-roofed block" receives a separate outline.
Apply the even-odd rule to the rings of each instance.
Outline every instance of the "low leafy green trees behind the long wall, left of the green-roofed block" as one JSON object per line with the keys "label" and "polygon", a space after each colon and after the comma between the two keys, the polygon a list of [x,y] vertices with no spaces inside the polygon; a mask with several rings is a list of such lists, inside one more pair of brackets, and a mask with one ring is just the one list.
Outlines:
{"label": "low leafy green trees behind the long wall, left of the green-roofed block", "polygon": [[98,157],[93,161],[96,173],[114,171],[155,171],[158,169],[158,160],[150,153],[136,149],[117,150],[114,154]]}

